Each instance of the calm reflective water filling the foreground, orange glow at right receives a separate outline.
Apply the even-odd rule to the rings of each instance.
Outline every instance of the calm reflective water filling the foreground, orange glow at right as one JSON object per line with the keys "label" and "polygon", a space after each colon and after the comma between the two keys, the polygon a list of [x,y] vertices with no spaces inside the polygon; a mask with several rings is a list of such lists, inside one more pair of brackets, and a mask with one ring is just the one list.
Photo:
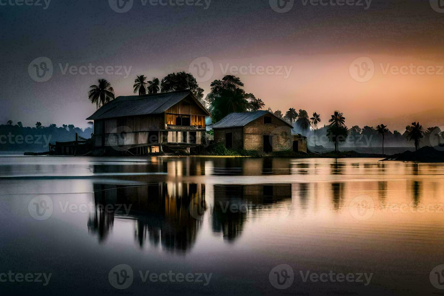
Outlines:
{"label": "calm reflective water filling the foreground, orange glow at right", "polygon": [[0,157],[0,183],[0,273],[52,274],[3,295],[443,292],[444,164]]}

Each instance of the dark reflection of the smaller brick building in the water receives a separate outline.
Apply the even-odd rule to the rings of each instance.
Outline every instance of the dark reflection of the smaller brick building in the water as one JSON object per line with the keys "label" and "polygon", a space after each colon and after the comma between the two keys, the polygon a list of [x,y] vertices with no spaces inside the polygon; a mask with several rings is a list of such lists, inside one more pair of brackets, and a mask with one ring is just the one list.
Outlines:
{"label": "dark reflection of the smaller brick building in the water", "polygon": [[212,228],[224,239],[234,241],[248,218],[273,207],[277,202],[291,204],[291,184],[214,185]]}

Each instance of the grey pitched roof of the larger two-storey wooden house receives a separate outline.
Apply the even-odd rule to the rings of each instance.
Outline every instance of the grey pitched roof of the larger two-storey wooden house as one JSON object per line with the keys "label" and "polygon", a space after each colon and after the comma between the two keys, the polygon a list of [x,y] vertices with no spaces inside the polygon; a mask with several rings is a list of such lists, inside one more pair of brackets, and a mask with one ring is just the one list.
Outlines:
{"label": "grey pitched roof of the larger two-storey wooden house", "polygon": [[198,106],[206,112],[206,114],[210,115],[190,90],[182,90],[142,96],[119,96],[100,107],[99,110],[95,111],[94,114],[86,119],[96,120],[120,116],[160,114],[168,110],[168,108],[173,107],[187,96],[190,96],[190,98],[192,98]]}

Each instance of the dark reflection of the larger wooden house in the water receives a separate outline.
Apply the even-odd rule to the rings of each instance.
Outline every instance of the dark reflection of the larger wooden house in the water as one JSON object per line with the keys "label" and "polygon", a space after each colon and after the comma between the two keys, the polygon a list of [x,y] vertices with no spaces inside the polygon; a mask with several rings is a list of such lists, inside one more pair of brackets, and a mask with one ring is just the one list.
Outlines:
{"label": "dark reflection of the larger wooden house in the water", "polygon": [[[96,208],[88,219],[88,230],[97,233],[99,241],[112,231],[115,219],[135,220],[135,240],[141,247],[148,238],[151,245],[185,252],[196,239],[201,221],[190,215],[189,205],[193,199],[205,199],[205,184],[95,184],[94,192]],[[130,205],[127,213],[125,206],[128,209]],[[107,210],[107,206],[114,210]]]}

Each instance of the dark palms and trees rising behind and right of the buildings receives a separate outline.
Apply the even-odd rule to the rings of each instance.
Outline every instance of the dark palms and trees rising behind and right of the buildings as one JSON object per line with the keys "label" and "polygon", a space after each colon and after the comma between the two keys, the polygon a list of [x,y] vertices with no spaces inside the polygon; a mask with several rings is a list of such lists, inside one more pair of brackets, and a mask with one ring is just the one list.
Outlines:
{"label": "dark palms and trees rising behind and right of the buildings", "polygon": [[[155,77],[147,81],[145,75],[136,76],[133,91],[139,95],[146,95],[190,89],[197,99],[210,111],[213,122],[218,122],[232,112],[258,111],[265,107],[262,99],[256,98],[252,93],[246,93],[243,87],[244,84],[239,77],[226,75],[222,79],[216,79],[210,84],[210,93],[204,98],[204,90],[198,86],[193,75],[182,71],[168,74],[160,82]],[[99,108],[114,99],[114,90],[107,80],[99,79],[98,85],[91,86],[88,98],[91,100],[91,103],[95,103],[97,108]],[[329,124],[321,128],[318,128],[318,124],[321,123],[321,115],[317,112],[314,112],[310,117],[305,110],[299,109],[299,111],[296,111],[295,108],[289,108],[285,114],[282,114],[280,110],[275,111],[274,114],[289,122],[293,126],[294,132],[305,136],[314,135],[314,141],[320,136],[326,136],[329,142],[334,145],[335,151],[338,151],[339,145],[346,142],[350,136],[369,137],[371,139],[371,146],[382,145],[383,154],[385,141],[396,146],[408,146],[409,142],[412,141],[417,150],[421,145],[440,145],[441,138],[444,137],[443,131],[437,126],[423,128],[419,122],[412,122],[411,125],[406,126],[403,134],[397,130],[391,132],[382,123],[376,128],[373,126],[364,126],[363,128],[353,126],[348,129],[345,125],[344,114],[339,111],[331,114],[328,120]],[[435,134],[430,136],[432,133]],[[437,143],[430,141],[429,138],[436,138]],[[316,146],[316,142],[314,145]],[[358,143],[354,145],[359,146]]]}

